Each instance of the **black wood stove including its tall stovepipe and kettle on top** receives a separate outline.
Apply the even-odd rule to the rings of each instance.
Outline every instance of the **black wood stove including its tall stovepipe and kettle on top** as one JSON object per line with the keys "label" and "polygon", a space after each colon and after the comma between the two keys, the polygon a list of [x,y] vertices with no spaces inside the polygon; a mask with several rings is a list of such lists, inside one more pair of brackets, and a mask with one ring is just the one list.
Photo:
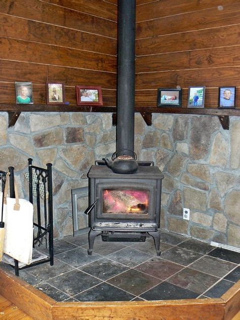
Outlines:
{"label": "black wood stove including its tall stovepipe and kettle on top", "polygon": [[161,253],[164,176],[152,162],[136,161],[134,153],[135,6],[135,0],[118,0],[116,152],[113,161],[96,161],[88,173],[89,255],[100,234],[103,241],[145,241],[148,233]]}

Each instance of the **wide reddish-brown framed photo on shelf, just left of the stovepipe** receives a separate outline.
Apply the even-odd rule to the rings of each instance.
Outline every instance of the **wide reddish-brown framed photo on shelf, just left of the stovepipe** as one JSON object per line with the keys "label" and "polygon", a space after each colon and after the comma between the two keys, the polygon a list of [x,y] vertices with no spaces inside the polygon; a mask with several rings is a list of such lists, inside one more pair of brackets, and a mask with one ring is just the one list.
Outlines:
{"label": "wide reddish-brown framed photo on shelf, just left of the stovepipe", "polygon": [[103,105],[99,86],[76,86],[77,105]]}

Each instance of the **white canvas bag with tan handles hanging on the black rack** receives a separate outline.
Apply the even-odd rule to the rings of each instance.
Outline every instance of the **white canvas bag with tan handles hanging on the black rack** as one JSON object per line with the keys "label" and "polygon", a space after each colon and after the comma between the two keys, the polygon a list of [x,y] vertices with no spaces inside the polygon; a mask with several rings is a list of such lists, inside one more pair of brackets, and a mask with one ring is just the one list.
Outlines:
{"label": "white canvas bag with tan handles hanging on the black rack", "polygon": [[25,199],[18,198],[16,183],[14,183],[16,198],[7,197],[8,181],[9,175],[7,175],[4,192],[4,253],[22,263],[30,264],[33,242],[33,205]]}

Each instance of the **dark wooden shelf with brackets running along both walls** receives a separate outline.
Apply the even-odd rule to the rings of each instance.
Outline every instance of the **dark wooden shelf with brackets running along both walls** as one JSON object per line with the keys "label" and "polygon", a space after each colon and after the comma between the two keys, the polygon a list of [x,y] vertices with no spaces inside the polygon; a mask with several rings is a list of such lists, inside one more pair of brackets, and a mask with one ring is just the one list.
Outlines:
{"label": "dark wooden shelf with brackets running along both walls", "polygon": [[[116,107],[107,106],[78,106],[78,105],[44,105],[44,104],[0,104],[0,111],[9,113],[9,127],[15,125],[21,112],[111,112],[116,113]],[[202,114],[217,115],[223,129],[229,129],[229,116],[240,116],[240,108],[186,108],[186,107],[135,107],[135,112],[140,112],[144,121],[151,126],[152,113],[173,114]],[[113,116],[115,125],[116,116]]]}

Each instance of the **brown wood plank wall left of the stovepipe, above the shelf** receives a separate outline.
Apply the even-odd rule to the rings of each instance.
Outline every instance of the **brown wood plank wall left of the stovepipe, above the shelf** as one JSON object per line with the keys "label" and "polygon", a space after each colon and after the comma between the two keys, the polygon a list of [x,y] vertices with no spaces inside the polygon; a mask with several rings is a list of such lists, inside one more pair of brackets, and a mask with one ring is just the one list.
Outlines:
{"label": "brown wood plank wall left of the stovepipe, above the shelf", "polygon": [[15,81],[33,83],[34,104],[46,104],[46,82],[101,86],[115,105],[117,6],[104,0],[1,0],[0,103],[15,103]]}

